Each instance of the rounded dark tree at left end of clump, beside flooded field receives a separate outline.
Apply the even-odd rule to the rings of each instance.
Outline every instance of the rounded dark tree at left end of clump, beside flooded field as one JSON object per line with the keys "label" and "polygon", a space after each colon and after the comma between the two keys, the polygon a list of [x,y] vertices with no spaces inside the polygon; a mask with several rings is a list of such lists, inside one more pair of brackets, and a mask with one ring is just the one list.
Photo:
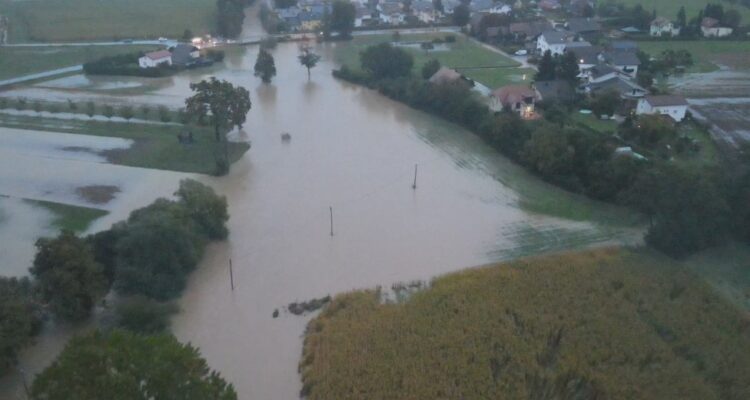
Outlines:
{"label": "rounded dark tree at left end of clump, beside flooded field", "polygon": [[89,316],[107,291],[102,266],[87,243],[70,231],[36,242],[31,275],[43,301],[63,319],[80,321]]}

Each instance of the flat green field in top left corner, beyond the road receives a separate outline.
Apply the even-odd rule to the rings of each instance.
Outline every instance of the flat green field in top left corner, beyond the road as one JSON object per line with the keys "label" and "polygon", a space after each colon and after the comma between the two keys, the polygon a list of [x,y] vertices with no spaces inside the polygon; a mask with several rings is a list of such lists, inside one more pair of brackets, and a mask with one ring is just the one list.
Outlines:
{"label": "flat green field in top left corner, beyond the road", "polygon": [[178,38],[214,28],[215,0],[0,0],[10,41]]}

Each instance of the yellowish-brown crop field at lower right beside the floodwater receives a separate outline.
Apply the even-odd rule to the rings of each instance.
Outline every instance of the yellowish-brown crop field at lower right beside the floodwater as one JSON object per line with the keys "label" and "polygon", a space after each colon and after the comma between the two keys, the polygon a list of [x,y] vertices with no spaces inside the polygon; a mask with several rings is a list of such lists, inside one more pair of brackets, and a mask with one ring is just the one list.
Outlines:
{"label": "yellowish-brown crop field at lower right beside the floodwater", "polygon": [[750,316],[645,250],[569,253],[337,296],[300,371],[310,400],[747,399]]}

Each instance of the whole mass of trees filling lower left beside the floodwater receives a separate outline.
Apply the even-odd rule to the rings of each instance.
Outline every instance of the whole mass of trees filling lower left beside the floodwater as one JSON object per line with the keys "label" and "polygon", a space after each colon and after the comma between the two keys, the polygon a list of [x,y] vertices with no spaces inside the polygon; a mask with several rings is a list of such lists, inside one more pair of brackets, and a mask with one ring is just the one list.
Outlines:
{"label": "whole mass of trees filling lower left beside the floodwater", "polygon": [[228,235],[225,197],[190,179],[175,197],[137,209],[106,231],[41,238],[31,279],[0,278],[0,373],[12,368],[44,319],[85,320],[114,289],[123,300],[107,329],[72,339],[34,381],[31,398],[122,391],[129,394],[123,398],[236,399],[197,349],[161,333],[176,311],[169,301],[184,289],[205,246]]}

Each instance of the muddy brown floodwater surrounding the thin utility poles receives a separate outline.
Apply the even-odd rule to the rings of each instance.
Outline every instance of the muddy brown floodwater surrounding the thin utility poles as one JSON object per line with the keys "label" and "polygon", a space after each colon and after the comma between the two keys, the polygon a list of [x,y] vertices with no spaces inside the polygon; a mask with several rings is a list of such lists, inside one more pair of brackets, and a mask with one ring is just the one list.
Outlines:
{"label": "muddy brown floodwater surrounding the thin utility poles", "polygon": [[[251,92],[248,122],[232,138],[252,140],[252,149],[227,177],[201,177],[229,200],[230,237],[208,248],[173,321],[175,335],[199,346],[240,399],[298,398],[309,315],[285,312],[292,301],[429,280],[542,251],[640,240],[638,229],[522,207],[531,200],[610,211],[539,181],[457,126],[333,79],[334,45],[318,48],[324,59],[309,81],[297,45],[281,44],[273,51],[278,75],[270,85],[253,76],[257,49],[247,48],[231,51],[223,69],[157,80],[142,93],[107,95],[178,104],[187,84],[208,73]],[[291,140],[281,140],[284,132]],[[163,182],[176,184],[176,178]],[[275,309],[281,311],[276,319]],[[70,331],[53,331],[24,354],[28,374],[54,358]],[[18,394],[19,382],[7,378],[0,387]]]}

